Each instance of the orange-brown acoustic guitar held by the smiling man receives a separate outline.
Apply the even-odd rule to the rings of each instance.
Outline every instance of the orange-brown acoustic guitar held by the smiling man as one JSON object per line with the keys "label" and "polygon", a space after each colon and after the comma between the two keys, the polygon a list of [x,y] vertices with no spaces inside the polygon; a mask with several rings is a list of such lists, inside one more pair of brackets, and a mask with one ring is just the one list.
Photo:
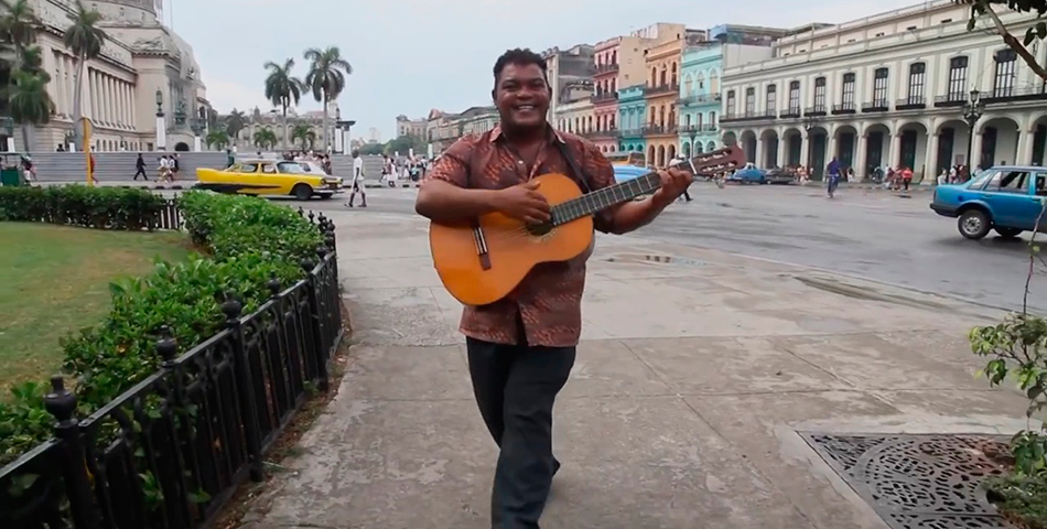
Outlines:
{"label": "orange-brown acoustic guitar held by the smiling man", "polygon": [[[672,164],[694,175],[732,171],[745,164],[738,147],[699,154]],[[494,303],[512,292],[531,268],[541,262],[566,261],[593,242],[593,214],[654,193],[661,186],[650,172],[592,193],[582,194],[574,180],[543,174],[535,180],[538,193],[551,206],[551,218],[526,225],[500,213],[472,222],[432,223],[429,244],[433,264],[447,291],[466,305]]]}

